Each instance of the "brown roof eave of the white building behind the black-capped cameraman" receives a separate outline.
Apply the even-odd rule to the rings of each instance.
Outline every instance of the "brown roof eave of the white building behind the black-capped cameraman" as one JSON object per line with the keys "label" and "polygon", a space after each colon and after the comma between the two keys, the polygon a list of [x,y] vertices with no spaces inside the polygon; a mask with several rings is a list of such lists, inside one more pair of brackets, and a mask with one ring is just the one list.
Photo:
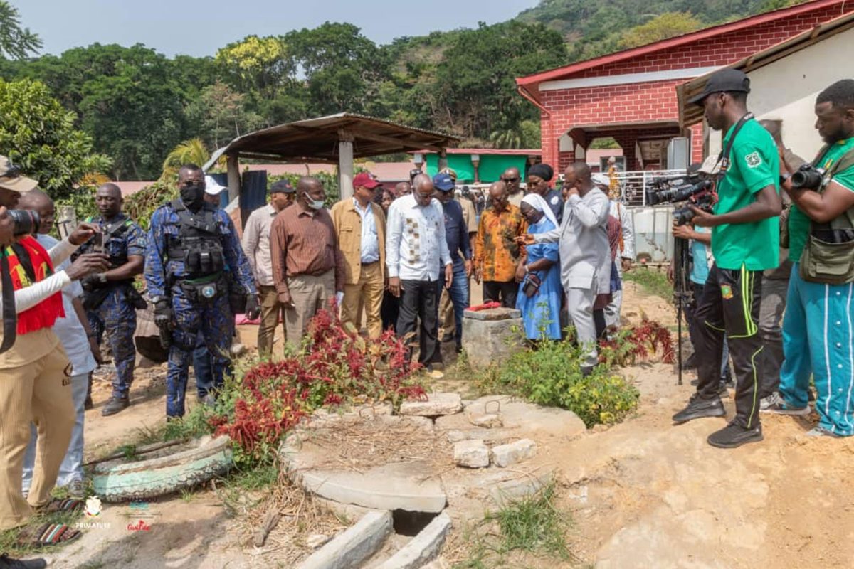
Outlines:
{"label": "brown roof eave of the white building behind the black-capped cameraman", "polygon": [[[851,4],[851,9],[854,10],[854,3]],[[810,45],[817,44],[822,39],[845,32],[851,29],[851,27],[854,27],[854,11],[834,20],[826,21],[811,30],[798,34],[794,38],[789,38],[780,44],[772,45],[768,49],[763,49],[727,67],[750,73],[754,69],[769,65],[769,63],[782,59],[787,55],[791,55]],[[844,70],[840,69],[839,71],[841,76],[845,76]],[[676,86],[676,96],[679,100],[679,122],[683,127],[694,125],[703,120],[703,107],[688,104],[687,101],[702,92],[710,75],[711,73],[706,73]]]}

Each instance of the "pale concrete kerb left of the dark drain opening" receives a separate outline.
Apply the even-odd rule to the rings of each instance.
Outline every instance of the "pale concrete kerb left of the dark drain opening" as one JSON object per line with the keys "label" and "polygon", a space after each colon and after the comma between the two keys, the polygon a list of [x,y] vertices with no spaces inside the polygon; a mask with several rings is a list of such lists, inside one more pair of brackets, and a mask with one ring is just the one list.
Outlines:
{"label": "pale concrete kerb left of the dark drain opening", "polygon": [[355,569],[377,553],[391,533],[391,512],[371,512],[311,554],[300,569]]}

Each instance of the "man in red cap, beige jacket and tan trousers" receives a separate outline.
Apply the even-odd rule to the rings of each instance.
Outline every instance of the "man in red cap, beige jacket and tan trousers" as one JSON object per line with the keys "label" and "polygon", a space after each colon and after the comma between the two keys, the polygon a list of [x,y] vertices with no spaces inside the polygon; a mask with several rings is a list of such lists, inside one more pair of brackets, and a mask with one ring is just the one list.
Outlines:
{"label": "man in red cap, beige jacket and tan trousers", "polygon": [[344,299],[341,319],[358,328],[360,307],[364,305],[368,335],[383,334],[380,307],[385,289],[385,214],[374,201],[379,188],[371,174],[353,179],[354,195],[332,206],[332,223],[344,258]]}

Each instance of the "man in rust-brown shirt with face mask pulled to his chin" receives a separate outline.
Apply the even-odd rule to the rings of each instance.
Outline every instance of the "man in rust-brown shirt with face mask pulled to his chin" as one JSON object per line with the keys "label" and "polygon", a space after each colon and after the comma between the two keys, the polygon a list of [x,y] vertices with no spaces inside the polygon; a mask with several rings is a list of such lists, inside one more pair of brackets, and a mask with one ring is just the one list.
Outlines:
{"label": "man in rust-brown shirt with face mask pulled to his chin", "polygon": [[270,228],[272,279],[284,305],[287,341],[294,346],[318,311],[344,298],[344,256],[325,200],[317,178],[301,177],[296,203],[278,212]]}

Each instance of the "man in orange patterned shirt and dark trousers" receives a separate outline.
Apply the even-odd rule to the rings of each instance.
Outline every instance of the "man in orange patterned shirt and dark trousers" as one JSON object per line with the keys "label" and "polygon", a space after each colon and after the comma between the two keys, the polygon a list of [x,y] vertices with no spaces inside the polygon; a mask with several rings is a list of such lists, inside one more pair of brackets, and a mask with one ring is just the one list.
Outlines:
{"label": "man in orange patterned shirt and dark trousers", "polygon": [[524,245],[515,241],[525,235],[528,222],[508,200],[504,182],[489,186],[489,209],[481,215],[475,240],[475,281],[483,281],[483,302],[500,302],[516,308],[516,268],[524,258]]}

